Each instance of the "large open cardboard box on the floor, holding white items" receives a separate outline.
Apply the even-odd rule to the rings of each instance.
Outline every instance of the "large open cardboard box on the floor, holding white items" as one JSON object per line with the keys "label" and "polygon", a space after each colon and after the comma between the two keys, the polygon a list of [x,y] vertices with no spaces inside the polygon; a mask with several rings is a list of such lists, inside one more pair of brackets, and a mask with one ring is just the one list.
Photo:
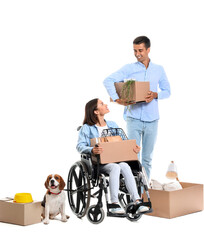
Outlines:
{"label": "large open cardboard box on the floor, holding white items", "polygon": [[[203,210],[203,185],[180,182],[183,189],[164,191],[149,189],[153,212],[147,215],[174,218]],[[144,200],[147,201],[144,194]]]}

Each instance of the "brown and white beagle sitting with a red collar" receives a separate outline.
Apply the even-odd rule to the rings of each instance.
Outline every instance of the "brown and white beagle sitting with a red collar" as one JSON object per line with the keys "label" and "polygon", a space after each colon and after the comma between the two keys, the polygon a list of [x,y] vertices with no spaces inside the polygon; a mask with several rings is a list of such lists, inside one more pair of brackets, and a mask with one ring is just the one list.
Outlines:
{"label": "brown and white beagle sitting with a red collar", "polygon": [[47,193],[41,202],[43,223],[49,224],[49,219],[54,219],[59,213],[61,213],[61,221],[66,222],[69,216],[65,215],[65,193],[62,191],[65,182],[63,178],[58,174],[51,174],[45,181],[45,187]]}

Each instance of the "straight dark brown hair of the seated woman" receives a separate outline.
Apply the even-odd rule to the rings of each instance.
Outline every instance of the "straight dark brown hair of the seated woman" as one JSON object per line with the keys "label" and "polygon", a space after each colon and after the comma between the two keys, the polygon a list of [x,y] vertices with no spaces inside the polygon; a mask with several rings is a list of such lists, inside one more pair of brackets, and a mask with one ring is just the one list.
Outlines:
{"label": "straight dark brown hair of the seated woman", "polygon": [[85,106],[85,117],[83,124],[88,124],[90,126],[95,125],[98,122],[98,117],[94,113],[97,110],[98,98],[94,98],[91,101],[87,102]]}

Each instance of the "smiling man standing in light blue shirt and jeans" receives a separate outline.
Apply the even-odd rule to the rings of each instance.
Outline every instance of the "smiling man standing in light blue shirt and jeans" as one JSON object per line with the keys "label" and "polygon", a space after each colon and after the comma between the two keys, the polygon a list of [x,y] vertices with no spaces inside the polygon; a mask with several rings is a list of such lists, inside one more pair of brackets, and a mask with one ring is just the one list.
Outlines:
{"label": "smiling man standing in light blue shirt and jeans", "polygon": [[[124,100],[119,99],[114,83],[123,82],[125,79],[150,82],[151,91],[146,96],[146,102],[133,104],[130,106],[130,110],[127,110],[127,107],[124,110],[128,138],[136,139],[138,145],[142,140],[141,162],[150,180],[152,154],[159,120],[158,100],[170,96],[170,85],[163,67],[150,61],[148,56],[150,52],[149,38],[137,37],[133,41],[133,49],[137,62],[127,64],[111,74],[104,80],[104,86],[113,101],[127,106]],[[160,91],[158,91],[158,87]]]}

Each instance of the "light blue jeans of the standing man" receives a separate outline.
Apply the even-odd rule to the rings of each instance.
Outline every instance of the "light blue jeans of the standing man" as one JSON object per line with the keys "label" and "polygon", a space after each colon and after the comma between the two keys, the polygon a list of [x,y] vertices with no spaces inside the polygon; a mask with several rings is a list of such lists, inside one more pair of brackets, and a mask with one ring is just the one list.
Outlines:
{"label": "light blue jeans of the standing man", "polygon": [[157,138],[158,120],[144,122],[135,118],[127,117],[126,122],[128,138],[136,139],[136,143],[139,146],[142,140],[142,158],[140,158],[140,153],[138,154],[138,158],[140,159],[142,166],[145,168],[147,177],[150,180],[152,156]]}

